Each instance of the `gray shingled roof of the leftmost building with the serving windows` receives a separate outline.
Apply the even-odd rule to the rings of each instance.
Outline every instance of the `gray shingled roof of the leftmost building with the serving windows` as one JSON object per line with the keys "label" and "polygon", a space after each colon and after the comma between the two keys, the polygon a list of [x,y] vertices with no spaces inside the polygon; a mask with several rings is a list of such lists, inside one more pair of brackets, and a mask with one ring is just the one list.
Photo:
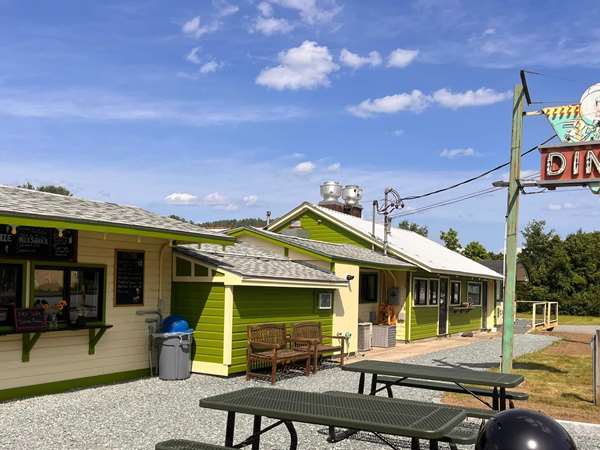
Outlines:
{"label": "gray shingled roof of the leftmost building with the serving windows", "polygon": [[81,224],[117,225],[146,231],[232,240],[222,233],[163,217],[135,206],[83,200],[12,186],[0,185],[0,215]]}

